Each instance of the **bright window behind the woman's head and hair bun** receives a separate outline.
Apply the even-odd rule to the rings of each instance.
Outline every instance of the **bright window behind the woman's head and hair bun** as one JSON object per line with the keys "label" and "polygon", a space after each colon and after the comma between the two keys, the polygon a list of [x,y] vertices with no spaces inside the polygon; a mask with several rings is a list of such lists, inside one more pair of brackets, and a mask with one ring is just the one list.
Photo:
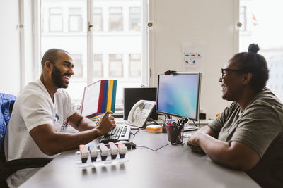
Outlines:
{"label": "bright window behind the woman's head and hair bun", "polygon": [[[283,101],[283,26],[280,24],[283,18],[282,1],[240,0],[240,7],[246,7],[246,12],[240,8],[240,15],[245,13],[241,17],[246,16],[246,28],[249,33],[247,35],[247,32],[240,30],[239,51],[247,51],[251,43],[260,46],[258,54],[265,56],[270,69],[267,87]],[[262,8],[265,11],[262,11]]]}

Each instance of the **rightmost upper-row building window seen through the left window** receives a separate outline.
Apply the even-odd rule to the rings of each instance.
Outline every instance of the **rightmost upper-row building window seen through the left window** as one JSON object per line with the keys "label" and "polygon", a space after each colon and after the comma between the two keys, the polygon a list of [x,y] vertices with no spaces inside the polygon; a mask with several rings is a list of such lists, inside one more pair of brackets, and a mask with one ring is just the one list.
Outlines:
{"label": "rightmost upper-row building window seen through the left window", "polygon": [[129,8],[129,30],[140,31],[141,30],[141,8],[130,7]]}

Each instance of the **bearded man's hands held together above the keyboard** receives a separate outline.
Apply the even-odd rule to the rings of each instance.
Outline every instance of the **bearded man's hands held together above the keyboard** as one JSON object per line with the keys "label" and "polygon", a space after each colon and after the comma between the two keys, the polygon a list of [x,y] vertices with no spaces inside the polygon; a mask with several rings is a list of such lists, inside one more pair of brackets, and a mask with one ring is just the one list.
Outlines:
{"label": "bearded man's hands held together above the keyboard", "polygon": [[114,117],[110,116],[110,114],[113,114],[112,111],[107,111],[103,115],[103,118],[101,118],[96,125],[96,129],[98,130],[98,134],[100,134],[100,136],[107,134],[110,130],[116,127]]}

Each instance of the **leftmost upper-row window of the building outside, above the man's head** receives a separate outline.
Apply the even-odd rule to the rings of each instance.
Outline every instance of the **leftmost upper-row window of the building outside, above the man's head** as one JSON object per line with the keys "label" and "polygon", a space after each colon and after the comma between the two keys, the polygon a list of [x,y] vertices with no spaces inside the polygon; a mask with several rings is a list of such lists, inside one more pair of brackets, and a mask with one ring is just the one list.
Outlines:
{"label": "leftmost upper-row window of the building outside, above the man's head", "polygon": [[50,8],[49,19],[50,32],[63,32],[62,8]]}

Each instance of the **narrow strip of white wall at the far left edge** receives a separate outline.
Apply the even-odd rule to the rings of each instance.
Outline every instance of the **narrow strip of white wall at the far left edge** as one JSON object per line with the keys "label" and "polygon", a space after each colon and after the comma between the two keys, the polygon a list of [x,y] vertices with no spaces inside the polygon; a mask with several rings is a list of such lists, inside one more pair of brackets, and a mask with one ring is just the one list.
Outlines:
{"label": "narrow strip of white wall at the far left edge", "polygon": [[18,0],[0,1],[0,92],[20,92]]}

